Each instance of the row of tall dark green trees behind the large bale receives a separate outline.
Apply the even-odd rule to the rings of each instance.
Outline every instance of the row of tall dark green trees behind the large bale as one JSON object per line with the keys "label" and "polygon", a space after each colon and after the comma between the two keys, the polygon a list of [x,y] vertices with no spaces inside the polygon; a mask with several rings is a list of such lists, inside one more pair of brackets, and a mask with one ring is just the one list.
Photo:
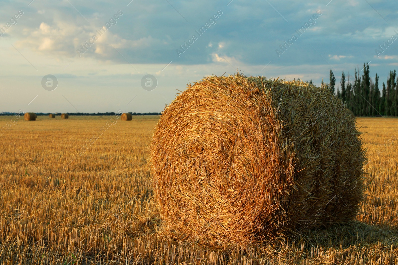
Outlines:
{"label": "row of tall dark green trees behind the large bale", "polygon": [[339,88],[335,93],[336,77],[330,70],[330,91],[345,102],[347,108],[355,116],[398,116],[398,77],[396,71],[390,71],[386,84],[382,84],[380,93],[378,78],[375,81],[369,75],[369,64],[363,64],[363,74],[359,68],[354,70],[354,76],[341,74]]}

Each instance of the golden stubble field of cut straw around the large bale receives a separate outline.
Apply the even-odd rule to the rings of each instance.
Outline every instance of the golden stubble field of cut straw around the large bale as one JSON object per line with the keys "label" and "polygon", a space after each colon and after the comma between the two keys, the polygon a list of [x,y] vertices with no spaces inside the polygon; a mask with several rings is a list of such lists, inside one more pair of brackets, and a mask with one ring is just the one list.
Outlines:
{"label": "golden stubble field of cut straw around the large bale", "polygon": [[0,263],[398,264],[396,118],[357,118],[369,163],[355,221],[229,251],[161,233],[147,165],[158,117],[86,118],[0,132]]}

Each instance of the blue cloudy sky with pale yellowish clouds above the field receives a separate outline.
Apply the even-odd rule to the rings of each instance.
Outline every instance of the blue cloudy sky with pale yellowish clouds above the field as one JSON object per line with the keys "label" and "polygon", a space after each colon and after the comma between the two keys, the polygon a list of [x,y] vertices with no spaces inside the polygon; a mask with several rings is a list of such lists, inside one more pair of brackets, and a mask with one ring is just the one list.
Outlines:
{"label": "blue cloudy sky with pale yellowish clouds above the field", "polygon": [[395,1],[303,2],[0,0],[0,112],[160,112],[212,74],[320,85],[369,63],[381,87],[398,68]]}

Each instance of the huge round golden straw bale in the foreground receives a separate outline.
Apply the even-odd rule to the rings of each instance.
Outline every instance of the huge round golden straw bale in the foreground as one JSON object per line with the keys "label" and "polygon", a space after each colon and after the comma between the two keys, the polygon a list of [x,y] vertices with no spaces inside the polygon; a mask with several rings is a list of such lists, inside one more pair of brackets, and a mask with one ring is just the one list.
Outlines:
{"label": "huge round golden straw bale in the foreground", "polygon": [[345,222],[363,199],[355,121],[329,89],[211,76],[165,108],[150,143],[166,230],[206,244]]}

